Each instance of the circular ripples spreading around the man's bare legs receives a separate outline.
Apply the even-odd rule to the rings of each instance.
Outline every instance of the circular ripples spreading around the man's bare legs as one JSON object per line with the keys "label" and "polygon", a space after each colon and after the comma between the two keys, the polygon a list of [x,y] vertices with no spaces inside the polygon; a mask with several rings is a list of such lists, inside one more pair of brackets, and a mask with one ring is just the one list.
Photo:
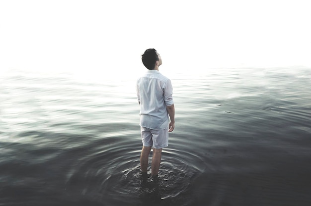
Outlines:
{"label": "circular ripples spreading around the man's bare legs", "polygon": [[[187,190],[194,174],[205,169],[202,160],[190,152],[163,149],[158,180],[150,175],[144,179],[139,161],[141,146],[137,140],[113,137],[97,145],[68,173],[67,188],[99,202],[133,204],[151,197],[175,198]],[[151,156],[152,152],[149,165]]]}

